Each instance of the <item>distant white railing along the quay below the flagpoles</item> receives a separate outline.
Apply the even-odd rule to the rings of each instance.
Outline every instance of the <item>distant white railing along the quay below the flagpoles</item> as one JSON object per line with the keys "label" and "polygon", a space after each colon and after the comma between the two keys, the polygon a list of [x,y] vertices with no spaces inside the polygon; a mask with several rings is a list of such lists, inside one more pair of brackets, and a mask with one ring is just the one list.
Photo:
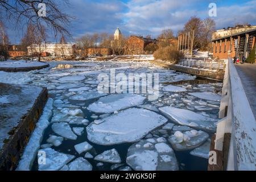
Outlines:
{"label": "distant white railing along the quay below the flagpoles", "polygon": [[184,67],[197,67],[200,69],[224,69],[224,61],[221,60],[180,60],[177,62],[178,65]]}

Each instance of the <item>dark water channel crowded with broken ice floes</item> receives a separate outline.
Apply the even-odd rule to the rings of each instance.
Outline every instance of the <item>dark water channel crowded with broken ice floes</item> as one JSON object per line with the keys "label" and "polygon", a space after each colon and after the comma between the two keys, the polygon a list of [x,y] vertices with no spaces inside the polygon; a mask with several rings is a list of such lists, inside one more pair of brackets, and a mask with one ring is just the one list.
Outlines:
{"label": "dark water channel crowded with broken ice floes", "polygon": [[[148,61],[52,61],[49,64],[49,69],[1,72],[0,76],[0,82],[9,79],[19,84],[46,86],[53,98],[49,126],[38,136],[38,139],[42,137],[38,148],[40,154],[47,154],[47,164],[35,165],[35,159],[29,169],[193,169],[187,167],[193,166],[190,160],[181,166],[176,146],[180,144],[186,155],[195,158],[194,153],[189,152],[210,138],[209,131],[214,132],[220,102],[215,94],[214,99],[207,96],[209,93],[220,96],[221,83],[191,84],[186,80],[193,81],[195,76],[156,67]],[[59,69],[59,64],[72,67]],[[159,73],[159,98],[150,100],[148,94],[98,93],[98,74],[110,75],[112,68],[116,74]],[[176,81],[183,84],[168,86]],[[207,94],[200,97],[191,93]],[[0,101],[6,102],[6,99]],[[175,114],[172,110],[179,112]],[[182,141],[177,131],[182,134]],[[193,147],[188,146],[191,143],[195,143]],[[37,155],[26,151],[28,149],[22,160],[31,160],[28,155]],[[196,155],[199,152],[196,151]],[[201,169],[206,170],[207,166],[201,164]]]}

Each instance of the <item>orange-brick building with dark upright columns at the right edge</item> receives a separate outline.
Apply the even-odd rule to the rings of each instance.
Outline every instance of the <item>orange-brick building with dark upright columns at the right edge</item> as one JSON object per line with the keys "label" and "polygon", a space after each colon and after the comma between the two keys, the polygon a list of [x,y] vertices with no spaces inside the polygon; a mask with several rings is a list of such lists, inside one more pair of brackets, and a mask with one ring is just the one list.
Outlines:
{"label": "orange-brick building with dark upright columns at the right edge", "polygon": [[219,31],[213,33],[213,57],[228,59],[230,55],[230,57],[236,56],[242,59],[243,56],[247,58],[251,51],[255,51],[253,47],[255,46],[256,28],[241,29],[241,31],[239,29],[241,28],[229,28],[221,30],[223,34],[219,34]]}

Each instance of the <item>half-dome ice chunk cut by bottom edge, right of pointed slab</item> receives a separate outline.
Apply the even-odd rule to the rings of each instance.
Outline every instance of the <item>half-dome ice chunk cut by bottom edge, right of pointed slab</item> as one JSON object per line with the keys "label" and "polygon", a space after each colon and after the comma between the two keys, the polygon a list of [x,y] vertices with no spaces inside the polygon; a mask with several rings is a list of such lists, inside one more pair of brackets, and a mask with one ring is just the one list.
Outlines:
{"label": "half-dome ice chunk cut by bottom edge, right of pointed slab", "polygon": [[92,171],[92,165],[84,158],[77,158],[68,164],[69,171]]}

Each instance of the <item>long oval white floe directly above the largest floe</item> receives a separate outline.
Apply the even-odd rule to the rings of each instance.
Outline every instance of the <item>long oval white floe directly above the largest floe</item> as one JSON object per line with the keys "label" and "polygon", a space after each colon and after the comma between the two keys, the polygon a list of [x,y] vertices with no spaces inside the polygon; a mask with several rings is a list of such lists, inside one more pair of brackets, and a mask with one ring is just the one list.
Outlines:
{"label": "long oval white floe directly above the largest floe", "polygon": [[101,97],[97,102],[90,104],[87,109],[95,113],[113,113],[117,110],[141,105],[145,99],[137,94],[113,94]]}

